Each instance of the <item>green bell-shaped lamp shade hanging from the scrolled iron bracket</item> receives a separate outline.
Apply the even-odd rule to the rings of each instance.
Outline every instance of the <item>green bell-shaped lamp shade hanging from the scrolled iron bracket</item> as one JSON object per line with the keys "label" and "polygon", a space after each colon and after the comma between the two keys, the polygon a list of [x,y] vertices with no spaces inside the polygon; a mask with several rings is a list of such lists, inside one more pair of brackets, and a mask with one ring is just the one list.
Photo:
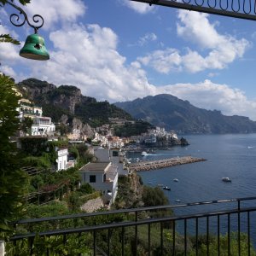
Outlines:
{"label": "green bell-shaped lamp shade hanging from the scrolled iron bracket", "polygon": [[26,59],[47,61],[49,60],[49,53],[44,45],[44,38],[38,34],[29,35],[22,49],[20,49],[20,56]]}

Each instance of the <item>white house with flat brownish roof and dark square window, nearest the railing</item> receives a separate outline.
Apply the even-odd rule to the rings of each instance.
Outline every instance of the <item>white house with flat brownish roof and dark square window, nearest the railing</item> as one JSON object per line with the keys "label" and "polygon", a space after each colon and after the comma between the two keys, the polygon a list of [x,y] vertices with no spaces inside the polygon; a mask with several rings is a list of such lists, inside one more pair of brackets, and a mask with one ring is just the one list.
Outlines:
{"label": "white house with flat brownish roof and dark square window, nearest the railing", "polygon": [[115,200],[118,189],[117,167],[111,162],[88,163],[79,169],[81,183],[102,191],[103,200],[109,206]]}

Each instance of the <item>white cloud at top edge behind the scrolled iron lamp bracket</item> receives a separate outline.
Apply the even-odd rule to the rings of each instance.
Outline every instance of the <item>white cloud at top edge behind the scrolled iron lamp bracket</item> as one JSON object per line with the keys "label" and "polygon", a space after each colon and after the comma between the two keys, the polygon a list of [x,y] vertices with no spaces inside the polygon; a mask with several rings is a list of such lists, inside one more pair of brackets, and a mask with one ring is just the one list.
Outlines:
{"label": "white cloud at top edge behind the scrolled iron lamp bracket", "polygon": [[43,29],[49,30],[59,21],[65,24],[77,20],[84,15],[86,7],[82,0],[54,0],[32,1],[26,6],[26,11],[30,17],[32,15],[42,15],[44,17]]}

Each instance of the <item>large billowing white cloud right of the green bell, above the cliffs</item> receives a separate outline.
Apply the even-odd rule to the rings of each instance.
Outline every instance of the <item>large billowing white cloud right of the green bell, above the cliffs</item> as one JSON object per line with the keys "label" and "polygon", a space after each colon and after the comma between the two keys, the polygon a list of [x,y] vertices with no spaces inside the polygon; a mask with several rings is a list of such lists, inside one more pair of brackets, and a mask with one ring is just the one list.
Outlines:
{"label": "large billowing white cloud right of the green bell, above the cliffs", "polygon": [[107,27],[72,26],[49,34],[55,45],[44,66],[31,62],[32,77],[55,84],[73,84],[84,95],[98,100],[124,101],[149,94],[148,84],[138,62],[125,65],[119,55],[118,38]]}

